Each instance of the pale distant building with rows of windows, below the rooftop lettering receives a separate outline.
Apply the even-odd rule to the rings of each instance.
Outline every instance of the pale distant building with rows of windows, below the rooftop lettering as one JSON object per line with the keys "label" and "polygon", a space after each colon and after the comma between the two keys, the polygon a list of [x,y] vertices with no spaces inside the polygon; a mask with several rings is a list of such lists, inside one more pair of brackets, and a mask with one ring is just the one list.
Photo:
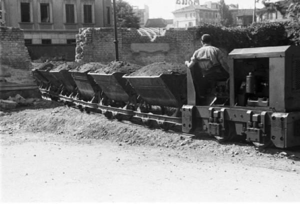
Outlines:
{"label": "pale distant building with rows of windows, below the rooftop lettering", "polygon": [[[236,24],[238,5],[229,5],[232,14],[233,24]],[[190,5],[172,12],[175,28],[188,28],[200,26],[201,24],[219,24],[219,4],[206,2],[205,5]]]}

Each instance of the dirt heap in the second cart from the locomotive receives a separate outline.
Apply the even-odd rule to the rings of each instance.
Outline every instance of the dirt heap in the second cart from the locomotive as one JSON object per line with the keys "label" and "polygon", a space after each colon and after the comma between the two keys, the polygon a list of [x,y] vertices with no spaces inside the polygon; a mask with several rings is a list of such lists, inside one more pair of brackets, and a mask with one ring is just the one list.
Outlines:
{"label": "dirt heap in the second cart from the locomotive", "polygon": [[139,65],[130,64],[125,61],[112,61],[108,65],[101,67],[92,73],[112,74],[113,72],[123,72],[130,74],[140,68],[141,66]]}

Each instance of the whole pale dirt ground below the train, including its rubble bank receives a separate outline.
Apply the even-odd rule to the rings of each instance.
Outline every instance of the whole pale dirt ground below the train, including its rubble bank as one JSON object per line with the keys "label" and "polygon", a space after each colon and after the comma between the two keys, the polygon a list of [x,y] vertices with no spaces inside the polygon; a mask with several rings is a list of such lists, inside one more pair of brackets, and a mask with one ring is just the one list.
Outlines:
{"label": "whole pale dirt ground below the train, including its rubble bank", "polygon": [[[190,142],[73,112],[54,105],[0,116],[2,201],[300,201],[297,152]],[[90,137],[78,132],[84,124]]]}

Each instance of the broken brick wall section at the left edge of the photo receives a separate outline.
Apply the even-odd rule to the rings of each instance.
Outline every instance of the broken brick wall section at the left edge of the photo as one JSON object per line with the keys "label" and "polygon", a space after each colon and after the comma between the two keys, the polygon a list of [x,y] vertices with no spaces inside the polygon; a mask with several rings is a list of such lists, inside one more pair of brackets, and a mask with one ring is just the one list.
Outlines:
{"label": "broken brick wall section at the left edge of the photo", "polygon": [[30,57],[24,46],[23,30],[0,27],[0,64],[16,69],[28,69]]}

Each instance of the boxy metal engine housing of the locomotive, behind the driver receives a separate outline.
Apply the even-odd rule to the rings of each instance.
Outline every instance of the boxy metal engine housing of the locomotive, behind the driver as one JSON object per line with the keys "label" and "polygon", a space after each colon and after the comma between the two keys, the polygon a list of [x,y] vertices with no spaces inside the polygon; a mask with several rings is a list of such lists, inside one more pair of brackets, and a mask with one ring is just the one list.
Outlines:
{"label": "boxy metal engine housing of the locomotive, behind the driver", "polygon": [[291,112],[300,109],[298,46],[235,49],[228,55],[230,107]]}

